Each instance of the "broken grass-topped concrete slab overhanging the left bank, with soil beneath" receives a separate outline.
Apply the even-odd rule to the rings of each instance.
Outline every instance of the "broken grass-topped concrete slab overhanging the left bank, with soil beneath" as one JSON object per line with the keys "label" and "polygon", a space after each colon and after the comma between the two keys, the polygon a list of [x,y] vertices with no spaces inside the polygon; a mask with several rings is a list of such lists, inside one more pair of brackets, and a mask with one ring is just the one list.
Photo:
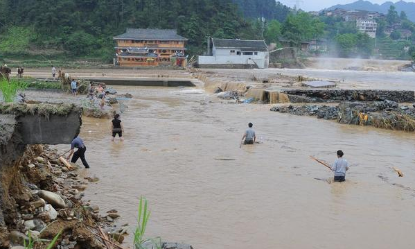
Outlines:
{"label": "broken grass-topped concrete slab overhanging the left bank, with soil beneath", "polygon": [[15,223],[16,200],[10,195],[21,186],[18,165],[26,145],[70,144],[80,132],[81,114],[73,104],[0,105],[0,230]]}

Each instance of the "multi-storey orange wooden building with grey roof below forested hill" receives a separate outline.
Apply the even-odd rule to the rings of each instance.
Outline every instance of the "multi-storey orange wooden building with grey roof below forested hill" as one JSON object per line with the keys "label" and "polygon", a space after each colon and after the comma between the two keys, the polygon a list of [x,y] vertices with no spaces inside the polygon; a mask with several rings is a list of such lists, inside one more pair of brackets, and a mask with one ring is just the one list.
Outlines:
{"label": "multi-storey orange wooden building with grey roof below forested hill", "polygon": [[187,39],[174,29],[127,28],[116,41],[116,63],[121,67],[184,66]]}

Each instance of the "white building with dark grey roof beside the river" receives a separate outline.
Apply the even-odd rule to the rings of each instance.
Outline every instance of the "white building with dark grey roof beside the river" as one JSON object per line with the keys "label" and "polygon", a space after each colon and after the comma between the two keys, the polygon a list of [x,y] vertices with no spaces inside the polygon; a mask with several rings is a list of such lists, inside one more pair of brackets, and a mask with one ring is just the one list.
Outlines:
{"label": "white building with dark grey roof beside the river", "polygon": [[207,55],[199,56],[199,67],[265,69],[270,53],[264,40],[209,39]]}

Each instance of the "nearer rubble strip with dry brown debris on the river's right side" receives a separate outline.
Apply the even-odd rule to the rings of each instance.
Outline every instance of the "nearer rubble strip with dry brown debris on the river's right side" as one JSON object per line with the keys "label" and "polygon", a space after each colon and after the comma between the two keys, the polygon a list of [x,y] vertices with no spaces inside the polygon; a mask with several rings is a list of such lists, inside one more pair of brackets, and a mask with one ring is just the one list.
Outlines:
{"label": "nearer rubble strip with dry brown debris on the river's right side", "polygon": [[374,126],[391,130],[415,131],[415,105],[400,105],[395,101],[343,102],[338,105],[277,105],[274,112],[299,116],[316,116],[319,119],[337,120],[339,123]]}

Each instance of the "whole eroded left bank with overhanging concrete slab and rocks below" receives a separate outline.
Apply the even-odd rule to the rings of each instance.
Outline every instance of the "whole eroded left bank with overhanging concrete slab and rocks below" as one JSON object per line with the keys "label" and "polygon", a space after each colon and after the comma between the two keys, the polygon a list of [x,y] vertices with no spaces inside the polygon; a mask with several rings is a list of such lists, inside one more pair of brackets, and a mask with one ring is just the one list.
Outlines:
{"label": "whole eroded left bank with overhanging concrete slab and rocks below", "polygon": [[39,145],[69,144],[80,132],[81,112],[75,105],[0,105],[0,248],[29,241],[45,248],[44,239],[57,234],[60,248],[107,248],[98,227],[119,215],[99,216],[97,206],[81,200],[98,179],[82,178]]}

